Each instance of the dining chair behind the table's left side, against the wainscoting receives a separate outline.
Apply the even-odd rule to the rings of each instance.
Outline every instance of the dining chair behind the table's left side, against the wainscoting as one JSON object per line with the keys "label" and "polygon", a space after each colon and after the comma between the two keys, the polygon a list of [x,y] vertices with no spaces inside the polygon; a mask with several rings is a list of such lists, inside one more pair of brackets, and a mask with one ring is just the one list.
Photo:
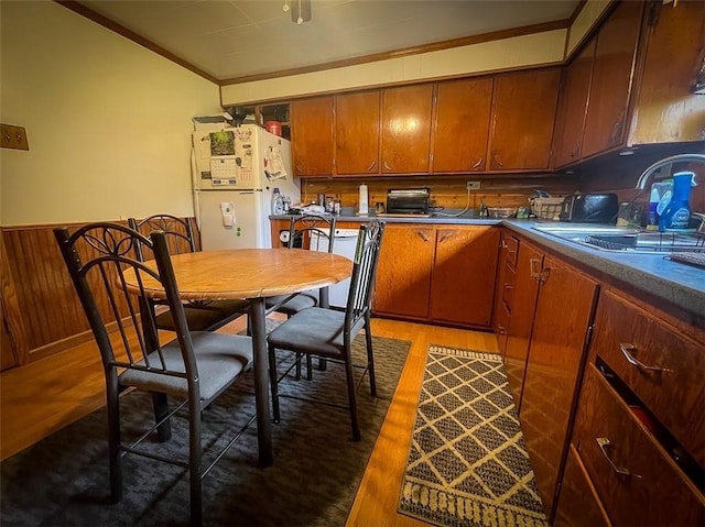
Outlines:
{"label": "dining chair behind the table's left side, against the wainscoting", "polygon": [[[188,218],[178,218],[172,215],[153,215],[142,220],[129,218],[131,229],[149,235],[153,231],[163,231],[171,254],[181,254],[196,251],[196,239]],[[138,259],[144,262],[153,257],[148,246],[138,243]],[[166,305],[165,300],[154,300],[153,305]],[[184,312],[192,331],[215,331],[236,318],[246,315],[249,308],[247,300],[189,300],[184,303]],[[169,309],[159,310],[156,327],[169,331],[175,330],[175,323]]]}

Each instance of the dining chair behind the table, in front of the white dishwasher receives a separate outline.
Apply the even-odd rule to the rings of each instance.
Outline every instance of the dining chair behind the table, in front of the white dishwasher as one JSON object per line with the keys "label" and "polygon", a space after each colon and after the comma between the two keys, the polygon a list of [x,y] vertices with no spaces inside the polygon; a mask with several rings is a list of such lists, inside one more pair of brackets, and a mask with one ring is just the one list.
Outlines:
{"label": "dining chair behind the table, in front of the white dishwasher", "polygon": [[[307,249],[311,251],[325,250],[333,253],[335,242],[336,218],[333,216],[303,215],[292,217],[289,223],[288,239],[284,242],[288,249]],[[321,245],[323,243],[323,245]],[[279,295],[267,298],[264,308],[268,312],[281,312],[291,318],[306,308],[321,306],[328,308],[328,287],[317,290],[296,293],[295,295]],[[301,354],[296,354],[296,380],[301,378]],[[319,370],[325,370],[325,361],[318,361]],[[306,356],[306,378],[313,378],[311,355]]]}

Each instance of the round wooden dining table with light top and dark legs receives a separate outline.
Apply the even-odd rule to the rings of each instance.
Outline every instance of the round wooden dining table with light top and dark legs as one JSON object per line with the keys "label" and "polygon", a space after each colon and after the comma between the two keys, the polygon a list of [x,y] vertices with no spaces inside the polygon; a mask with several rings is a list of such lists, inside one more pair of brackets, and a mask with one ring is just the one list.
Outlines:
{"label": "round wooden dining table with light top and dark legs", "polygon": [[[250,300],[254,398],[260,464],[272,463],[264,300],[316,289],[348,278],[352,262],[345,256],[302,249],[231,249],[171,256],[184,300]],[[154,261],[147,265],[156,268]],[[164,298],[161,285],[142,277],[145,294]],[[130,285],[130,284],[128,284]]]}

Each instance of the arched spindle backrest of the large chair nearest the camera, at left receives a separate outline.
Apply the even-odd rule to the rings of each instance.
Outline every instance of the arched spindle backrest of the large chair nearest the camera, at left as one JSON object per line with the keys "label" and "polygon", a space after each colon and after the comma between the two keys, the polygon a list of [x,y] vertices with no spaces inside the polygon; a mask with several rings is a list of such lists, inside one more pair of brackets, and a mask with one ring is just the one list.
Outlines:
{"label": "arched spindle backrest of the large chair nearest the camera, at left", "polygon": [[[192,394],[198,394],[198,372],[193,342],[178,298],[166,237],[147,238],[119,223],[89,223],[73,234],[55,228],[54,235],[102,359],[108,387],[117,388],[118,370],[133,369],[186,378]],[[156,270],[137,259],[138,248],[149,248]],[[137,276],[137,281],[130,279]],[[127,285],[137,283],[137,287]],[[176,325],[184,367],[167,367],[155,325],[148,307],[145,282],[156,281],[164,290]],[[107,307],[106,307],[107,306]]]}

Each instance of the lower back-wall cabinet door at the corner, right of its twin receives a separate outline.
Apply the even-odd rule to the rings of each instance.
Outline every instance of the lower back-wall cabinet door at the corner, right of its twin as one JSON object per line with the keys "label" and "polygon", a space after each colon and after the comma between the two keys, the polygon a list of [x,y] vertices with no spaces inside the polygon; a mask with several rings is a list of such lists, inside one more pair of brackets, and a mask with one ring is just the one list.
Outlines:
{"label": "lower back-wall cabinet door at the corner, right of its twin", "polygon": [[432,320],[489,327],[498,249],[499,230],[494,227],[437,229]]}

